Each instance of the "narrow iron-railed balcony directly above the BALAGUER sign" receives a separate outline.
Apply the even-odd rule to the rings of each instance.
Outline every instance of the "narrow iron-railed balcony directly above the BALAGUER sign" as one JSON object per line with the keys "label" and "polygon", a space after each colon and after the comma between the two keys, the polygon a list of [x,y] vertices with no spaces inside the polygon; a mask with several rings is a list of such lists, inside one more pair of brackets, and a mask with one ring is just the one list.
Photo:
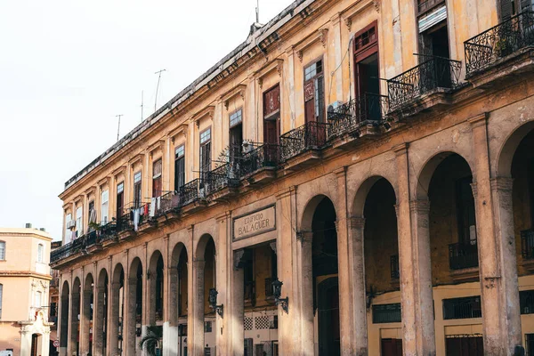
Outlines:
{"label": "narrow iron-railed balcony directly above the BALAGUER sign", "polygon": [[239,161],[239,176],[243,184],[262,185],[276,178],[279,166],[279,145],[263,143],[243,155]]}

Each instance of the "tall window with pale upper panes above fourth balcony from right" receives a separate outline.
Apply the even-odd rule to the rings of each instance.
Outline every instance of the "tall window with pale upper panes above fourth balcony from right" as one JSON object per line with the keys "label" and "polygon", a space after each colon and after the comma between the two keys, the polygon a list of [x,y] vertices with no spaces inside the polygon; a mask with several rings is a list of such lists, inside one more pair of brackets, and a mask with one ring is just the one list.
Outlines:
{"label": "tall window with pale upper panes above fourth balcony from right", "polygon": [[304,117],[306,122],[325,121],[325,87],[322,61],[304,69]]}

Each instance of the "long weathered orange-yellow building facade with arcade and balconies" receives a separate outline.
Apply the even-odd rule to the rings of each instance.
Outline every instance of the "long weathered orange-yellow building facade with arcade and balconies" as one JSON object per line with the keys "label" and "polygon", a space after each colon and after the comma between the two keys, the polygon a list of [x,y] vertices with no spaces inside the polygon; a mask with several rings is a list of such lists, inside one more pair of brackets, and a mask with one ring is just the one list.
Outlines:
{"label": "long weathered orange-yellow building facade with arcade and balconies", "polygon": [[534,352],[531,10],[253,25],[66,182],[61,354]]}

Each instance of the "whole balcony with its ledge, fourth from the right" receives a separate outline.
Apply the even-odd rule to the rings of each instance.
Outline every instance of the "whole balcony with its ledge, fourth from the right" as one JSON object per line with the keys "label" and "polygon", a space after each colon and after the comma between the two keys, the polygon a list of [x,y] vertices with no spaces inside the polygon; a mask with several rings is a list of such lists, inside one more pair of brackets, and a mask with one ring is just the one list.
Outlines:
{"label": "whole balcony with its ledge, fourth from the right", "polygon": [[289,169],[315,163],[320,159],[320,150],[327,144],[327,134],[328,124],[317,121],[310,121],[282,134],[280,136],[280,159]]}

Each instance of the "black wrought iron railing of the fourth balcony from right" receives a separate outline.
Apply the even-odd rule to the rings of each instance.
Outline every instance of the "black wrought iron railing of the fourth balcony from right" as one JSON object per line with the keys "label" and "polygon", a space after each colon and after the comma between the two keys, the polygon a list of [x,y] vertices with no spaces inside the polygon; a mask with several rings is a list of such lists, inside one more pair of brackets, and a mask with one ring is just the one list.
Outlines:
{"label": "black wrought iron railing of the fourth balcony from right", "polygon": [[328,124],[310,121],[280,136],[280,158],[285,161],[306,150],[321,149],[327,144]]}

